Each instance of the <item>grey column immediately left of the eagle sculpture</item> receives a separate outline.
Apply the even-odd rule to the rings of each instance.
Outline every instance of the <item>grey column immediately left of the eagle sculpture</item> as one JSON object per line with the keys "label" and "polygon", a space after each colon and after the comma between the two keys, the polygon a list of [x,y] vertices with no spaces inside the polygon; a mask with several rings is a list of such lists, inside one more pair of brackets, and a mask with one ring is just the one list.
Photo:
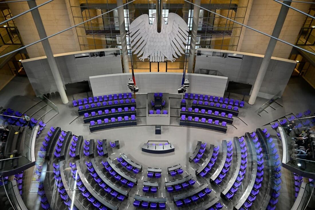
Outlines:
{"label": "grey column immediately left of the eagle sculpture", "polygon": [[[117,7],[121,5],[123,5],[123,0],[117,0]],[[121,50],[123,52],[123,70],[124,70],[123,72],[129,73],[129,60],[128,60],[126,28],[125,28],[126,26],[125,26],[123,7],[119,7],[117,10],[118,10]]]}

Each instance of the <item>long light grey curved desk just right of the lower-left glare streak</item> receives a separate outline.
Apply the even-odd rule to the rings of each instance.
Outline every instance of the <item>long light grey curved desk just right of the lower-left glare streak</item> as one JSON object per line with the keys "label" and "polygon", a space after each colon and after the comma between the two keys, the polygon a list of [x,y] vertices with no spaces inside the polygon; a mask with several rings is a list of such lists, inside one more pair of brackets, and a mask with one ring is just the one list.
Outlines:
{"label": "long light grey curved desk just right of the lower-left glare streak", "polygon": [[77,165],[77,173],[79,174],[79,177],[80,177],[84,187],[86,188],[86,190],[89,191],[91,193],[91,195],[93,197],[95,197],[95,199],[97,201],[99,201],[102,205],[104,205],[107,208],[112,209],[112,210],[118,210],[117,206],[114,206],[110,202],[104,200],[103,197],[101,197],[97,192],[95,192],[93,187],[89,184],[89,182],[87,181],[86,177],[84,176],[84,173],[81,170],[81,166],[80,166],[80,161],[79,160],[76,161],[76,165]]}

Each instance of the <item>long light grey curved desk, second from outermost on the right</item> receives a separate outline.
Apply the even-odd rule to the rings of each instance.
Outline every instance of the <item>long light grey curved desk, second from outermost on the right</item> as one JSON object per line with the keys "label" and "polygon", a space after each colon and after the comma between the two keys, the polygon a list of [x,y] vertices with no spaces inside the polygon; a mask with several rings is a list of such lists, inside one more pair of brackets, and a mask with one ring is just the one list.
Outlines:
{"label": "long light grey curved desk, second from outermost on the right", "polygon": [[253,164],[252,164],[252,172],[251,172],[251,178],[249,180],[249,184],[244,191],[243,195],[240,197],[240,199],[236,202],[234,205],[234,209],[240,209],[245,201],[247,200],[250,192],[253,190],[254,184],[255,184],[255,179],[257,175],[257,153],[256,153],[256,148],[254,145],[254,142],[251,140],[251,136],[249,133],[245,133],[245,139],[246,142],[250,142],[247,148],[249,148],[249,154],[252,154],[253,156]]}

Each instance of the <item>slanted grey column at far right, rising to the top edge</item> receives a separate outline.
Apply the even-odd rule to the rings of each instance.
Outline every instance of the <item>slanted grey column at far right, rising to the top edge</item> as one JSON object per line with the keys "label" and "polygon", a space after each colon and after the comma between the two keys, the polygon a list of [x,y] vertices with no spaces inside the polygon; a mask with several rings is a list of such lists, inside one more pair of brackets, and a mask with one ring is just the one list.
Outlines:
{"label": "slanted grey column at far right, rising to the top edge", "polygon": [[[291,4],[290,1],[289,2],[284,2],[284,3],[287,4],[287,5]],[[278,19],[277,19],[276,24],[275,24],[275,26],[273,28],[273,31],[272,31],[272,37],[276,37],[276,38],[279,37],[281,29],[282,29],[282,26],[283,26],[284,21],[285,21],[285,18],[286,18],[287,14],[288,14],[288,10],[289,10],[289,7],[284,6],[284,5],[281,6],[281,9],[280,9],[280,12],[279,12],[279,15],[278,15]],[[265,74],[266,74],[266,71],[267,71],[267,68],[268,68],[268,65],[269,65],[269,62],[270,62],[270,59],[271,59],[271,56],[272,56],[272,53],[273,53],[273,51],[275,49],[276,44],[277,44],[277,40],[273,39],[273,38],[270,38],[270,41],[269,41],[269,44],[268,44],[265,56],[264,56],[264,58],[262,60],[260,69],[258,71],[258,75],[257,75],[256,81],[255,81],[255,84],[254,84],[254,88],[252,90],[252,94],[249,97],[248,103],[250,105],[254,105],[254,103],[255,103],[255,100],[257,98],[257,94],[258,94],[259,89],[261,87],[261,83],[262,83],[262,81],[263,81],[263,79],[265,77]]]}

